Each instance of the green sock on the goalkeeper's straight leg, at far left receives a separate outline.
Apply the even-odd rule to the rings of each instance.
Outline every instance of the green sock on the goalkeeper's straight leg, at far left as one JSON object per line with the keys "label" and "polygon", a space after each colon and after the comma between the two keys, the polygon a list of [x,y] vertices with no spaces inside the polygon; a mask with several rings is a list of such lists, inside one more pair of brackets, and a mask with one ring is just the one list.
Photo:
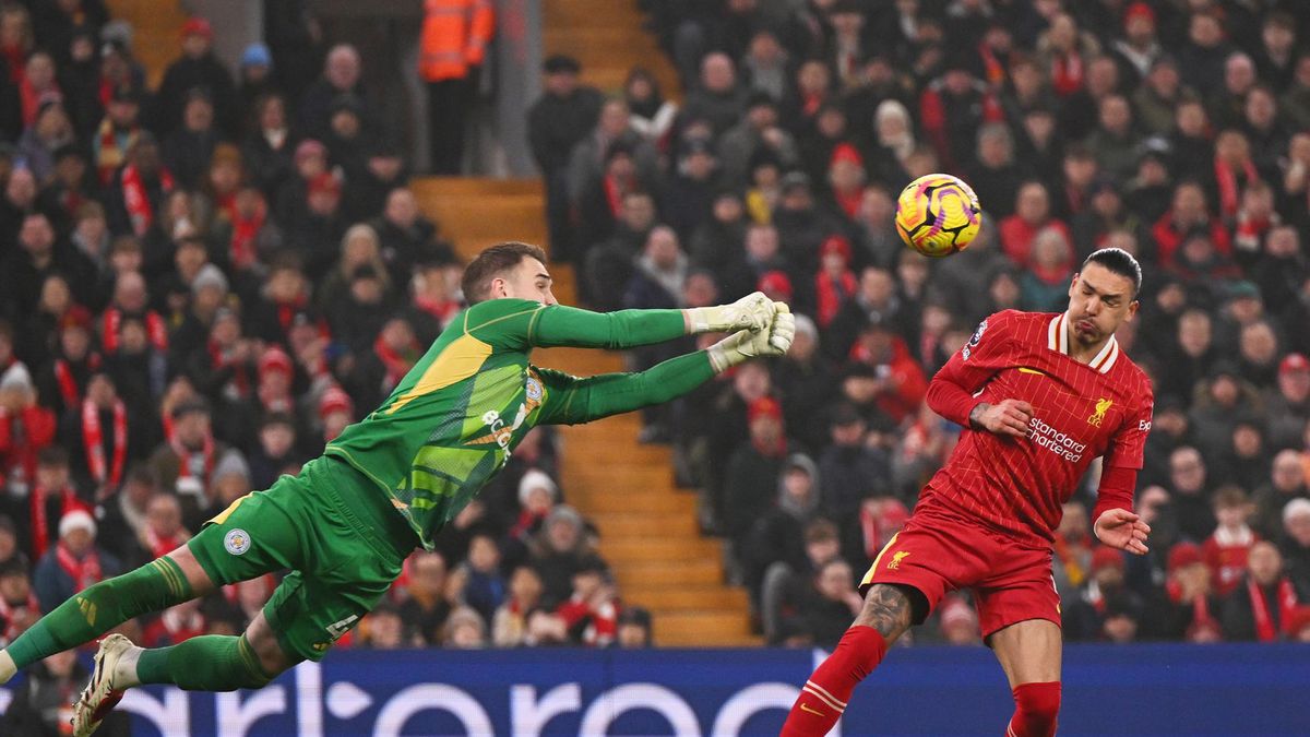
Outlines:
{"label": "green sock on the goalkeeper's straight leg, at far left", "polygon": [[21,670],[38,660],[94,640],[134,616],[193,598],[191,584],[170,557],[88,586],[42,616],[7,652]]}

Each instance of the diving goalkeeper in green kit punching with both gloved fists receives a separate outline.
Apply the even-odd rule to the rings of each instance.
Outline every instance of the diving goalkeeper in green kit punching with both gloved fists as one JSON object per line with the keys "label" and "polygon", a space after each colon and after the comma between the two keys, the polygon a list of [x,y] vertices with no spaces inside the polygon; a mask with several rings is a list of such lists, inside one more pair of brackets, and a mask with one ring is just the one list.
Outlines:
{"label": "diving goalkeeper in green kit punching with both gloved fists", "polygon": [[[464,274],[470,307],[381,407],[299,476],[237,500],[187,544],[56,607],[0,650],[0,683],[134,616],[291,569],[240,636],[157,649],[122,635],[101,641],[73,733],[90,734],[138,685],[258,688],[303,660],[322,658],[386,593],[410,551],[432,548],[534,425],[668,401],[736,363],[781,355],[794,334],[786,306],[758,292],[722,307],[601,315],[557,304],[550,285],[537,247],[503,243],[482,252]],[[538,346],[626,349],[705,332],[732,334],[639,374],[579,379],[528,361]]]}

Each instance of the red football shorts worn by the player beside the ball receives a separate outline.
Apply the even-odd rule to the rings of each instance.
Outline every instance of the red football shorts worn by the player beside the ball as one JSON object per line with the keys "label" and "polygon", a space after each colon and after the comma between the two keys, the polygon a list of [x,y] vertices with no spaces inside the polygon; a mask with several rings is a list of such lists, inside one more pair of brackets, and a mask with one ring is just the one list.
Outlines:
{"label": "red football shorts worn by the player beside the ball", "polygon": [[984,639],[1026,619],[1060,624],[1051,549],[1019,547],[979,523],[943,514],[913,514],[874,559],[859,593],[874,584],[913,586],[927,599],[929,612],[946,591],[973,589]]}

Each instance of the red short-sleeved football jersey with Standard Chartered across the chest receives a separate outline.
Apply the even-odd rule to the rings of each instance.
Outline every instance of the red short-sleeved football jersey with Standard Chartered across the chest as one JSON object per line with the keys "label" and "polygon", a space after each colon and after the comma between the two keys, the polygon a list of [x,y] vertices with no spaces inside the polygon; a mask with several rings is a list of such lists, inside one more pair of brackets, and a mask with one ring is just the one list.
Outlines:
{"label": "red short-sleeved football jersey with Standard Chartered across the chest", "polygon": [[1142,467],[1150,380],[1114,338],[1091,363],[1072,358],[1066,321],[1064,313],[997,312],[933,378],[992,404],[1027,401],[1034,416],[1027,438],[965,429],[916,511],[963,514],[1022,544],[1045,547],[1093,459]]}

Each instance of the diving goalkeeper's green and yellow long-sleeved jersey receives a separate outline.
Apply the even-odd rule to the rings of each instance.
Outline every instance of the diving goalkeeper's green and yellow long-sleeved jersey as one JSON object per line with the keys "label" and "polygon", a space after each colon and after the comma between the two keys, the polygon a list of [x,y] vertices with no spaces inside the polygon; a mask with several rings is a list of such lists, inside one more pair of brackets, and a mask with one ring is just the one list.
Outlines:
{"label": "diving goalkeeper's green and yellow long-sleeved jersey", "polygon": [[533,366],[533,348],[621,349],[684,333],[677,309],[596,313],[523,299],[482,302],[458,313],[386,401],[325,452],[373,480],[431,549],[436,532],[533,426],[668,401],[713,375],[697,351],[641,374],[579,379]]}

